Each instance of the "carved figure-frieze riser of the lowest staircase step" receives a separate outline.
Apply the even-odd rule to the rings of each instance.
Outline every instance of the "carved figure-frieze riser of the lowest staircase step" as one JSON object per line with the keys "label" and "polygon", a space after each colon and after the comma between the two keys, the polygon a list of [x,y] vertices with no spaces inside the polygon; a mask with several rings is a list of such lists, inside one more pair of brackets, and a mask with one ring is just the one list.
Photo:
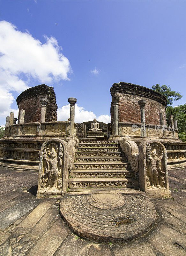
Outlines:
{"label": "carved figure-frieze riser of the lowest staircase step", "polygon": [[124,182],[69,182],[69,188],[108,188],[108,187],[123,187],[123,188],[138,188],[138,181]]}

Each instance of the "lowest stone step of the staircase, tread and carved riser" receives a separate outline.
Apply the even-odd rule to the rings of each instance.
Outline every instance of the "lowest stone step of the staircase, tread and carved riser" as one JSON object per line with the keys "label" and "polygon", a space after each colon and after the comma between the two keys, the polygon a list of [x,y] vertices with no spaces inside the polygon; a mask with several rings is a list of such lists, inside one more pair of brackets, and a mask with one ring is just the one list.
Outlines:
{"label": "lowest stone step of the staircase, tread and carved riser", "polygon": [[139,182],[136,179],[126,179],[121,177],[88,177],[88,178],[69,178],[69,188],[87,188],[87,187],[124,187],[138,188]]}

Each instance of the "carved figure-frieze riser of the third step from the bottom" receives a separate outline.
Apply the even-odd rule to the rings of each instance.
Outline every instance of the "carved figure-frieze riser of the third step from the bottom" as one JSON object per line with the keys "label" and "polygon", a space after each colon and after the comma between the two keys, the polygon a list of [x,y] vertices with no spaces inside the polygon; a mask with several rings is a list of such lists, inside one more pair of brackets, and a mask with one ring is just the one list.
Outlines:
{"label": "carved figure-frieze riser of the third step from the bottom", "polygon": [[126,169],[130,164],[77,164],[74,163],[73,169]]}

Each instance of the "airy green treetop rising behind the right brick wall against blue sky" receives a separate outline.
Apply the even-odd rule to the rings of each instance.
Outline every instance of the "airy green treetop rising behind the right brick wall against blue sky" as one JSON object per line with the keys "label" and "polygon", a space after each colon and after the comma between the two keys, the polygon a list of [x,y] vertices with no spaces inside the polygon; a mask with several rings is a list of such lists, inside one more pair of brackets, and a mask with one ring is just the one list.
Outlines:
{"label": "airy green treetop rising behind the right brick wall against blue sky", "polygon": [[173,100],[180,100],[182,98],[180,92],[171,91],[171,88],[165,84],[161,86],[160,84],[153,85],[152,89],[165,96],[165,98],[167,99],[168,106],[171,106],[173,104]]}

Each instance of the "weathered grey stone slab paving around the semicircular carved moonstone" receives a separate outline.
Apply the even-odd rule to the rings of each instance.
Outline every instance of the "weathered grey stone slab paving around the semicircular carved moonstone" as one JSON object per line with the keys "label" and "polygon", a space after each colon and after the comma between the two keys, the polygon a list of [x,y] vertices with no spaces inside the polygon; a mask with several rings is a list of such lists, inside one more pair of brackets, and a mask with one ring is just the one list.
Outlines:
{"label": "weathered grey stone slab paving around the semicircular carved moonstone", "polygon": [[38,172],[0,167],[0,255],[186,255],[186,169],[169,171],[172,199],[151,200],[157,226],[123,244],[93,243],[73,234],[59,215],[58,198],[37,199]]}

